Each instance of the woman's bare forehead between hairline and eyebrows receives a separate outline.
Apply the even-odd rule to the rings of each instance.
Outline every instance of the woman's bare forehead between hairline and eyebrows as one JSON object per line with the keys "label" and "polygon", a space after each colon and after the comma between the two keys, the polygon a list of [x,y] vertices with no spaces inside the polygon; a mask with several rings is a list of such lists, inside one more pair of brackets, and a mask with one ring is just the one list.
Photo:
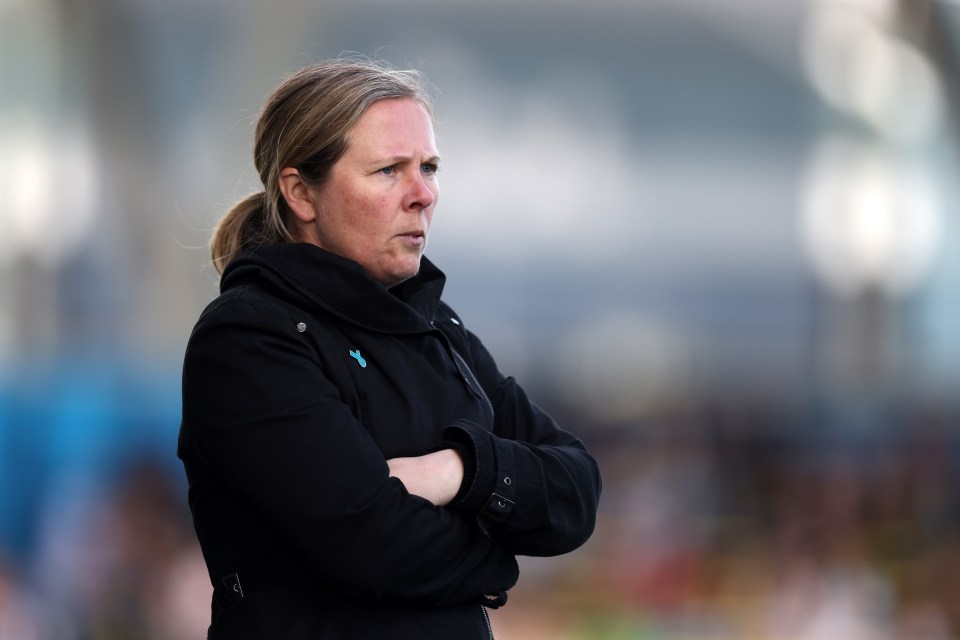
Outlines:
{"label": "woman's bare forehead between hairline and eyebrows", "polygon": [[433,121],[413,98],[374,102],[347,135],[348,152],[393,154],[436,153]]}

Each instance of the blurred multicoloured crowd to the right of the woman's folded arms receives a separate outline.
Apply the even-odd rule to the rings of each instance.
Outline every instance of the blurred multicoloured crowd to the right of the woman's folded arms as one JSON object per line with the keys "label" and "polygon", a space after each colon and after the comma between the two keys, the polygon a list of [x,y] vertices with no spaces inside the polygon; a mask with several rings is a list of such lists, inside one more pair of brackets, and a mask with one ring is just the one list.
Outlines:
{"label": "blurred multicoloured crowd to the right of the woman's folded arms", "polygon": [[740,399],[592,433],[597,534],[521,583],[505,637],[956,638],[958,417]]}

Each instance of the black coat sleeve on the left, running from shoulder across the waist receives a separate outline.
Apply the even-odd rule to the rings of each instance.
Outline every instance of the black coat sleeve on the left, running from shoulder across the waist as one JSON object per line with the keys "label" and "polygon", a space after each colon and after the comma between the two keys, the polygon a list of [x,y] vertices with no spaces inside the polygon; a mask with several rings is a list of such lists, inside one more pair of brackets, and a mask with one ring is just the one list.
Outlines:
{"label": "black coat sleeve on the left, running from shoulder across the waist", "polygon": [[185,358],[181,448],[299,549],[320,582],[430,604],[513,586],[508,545],[389,477],[294,322],[244,302],[205,316]]}

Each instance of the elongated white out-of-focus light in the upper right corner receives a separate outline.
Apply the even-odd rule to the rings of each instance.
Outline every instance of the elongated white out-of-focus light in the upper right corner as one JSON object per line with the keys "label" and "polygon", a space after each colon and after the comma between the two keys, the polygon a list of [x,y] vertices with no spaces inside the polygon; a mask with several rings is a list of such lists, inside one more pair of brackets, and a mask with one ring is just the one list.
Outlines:
{"label": "elongated white out-of-focus light in the upper right corner", "polygon": [[881,12],[861,4],[813,4],[802,42],[810,80],[827,103],[884,136],[921,141],[943,119],[937,74],[919,51],[884,31]]}

